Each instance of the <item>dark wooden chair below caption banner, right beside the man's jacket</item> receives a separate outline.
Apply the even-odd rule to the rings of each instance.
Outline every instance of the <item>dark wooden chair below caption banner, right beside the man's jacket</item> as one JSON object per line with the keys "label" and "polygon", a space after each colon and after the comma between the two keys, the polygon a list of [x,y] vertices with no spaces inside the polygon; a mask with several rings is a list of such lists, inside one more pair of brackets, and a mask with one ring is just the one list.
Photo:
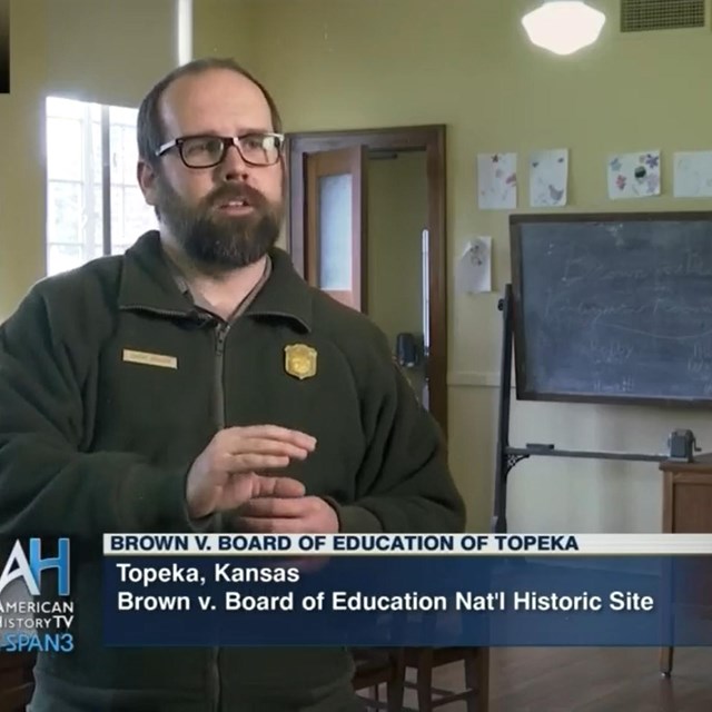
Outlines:
{"label": "dark wooden chair below caption banner, right beside the man's jacket", "polygon": [[[396,647],[356,647],[352,650],[356,670],[353,685],[356,692],[370,689],[372,695],[359,698],[374,710],[402,712],[405,689],[405,655]],[[380,701],[379,686],[386,685],[386,700]]]}

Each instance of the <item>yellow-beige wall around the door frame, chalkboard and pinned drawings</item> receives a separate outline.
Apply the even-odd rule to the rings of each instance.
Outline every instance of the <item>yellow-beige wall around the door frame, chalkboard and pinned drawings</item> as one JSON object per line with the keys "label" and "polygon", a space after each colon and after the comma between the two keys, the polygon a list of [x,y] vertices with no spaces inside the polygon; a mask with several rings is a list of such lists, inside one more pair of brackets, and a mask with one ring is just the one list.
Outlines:
{"label": "yellow-beige wall around the door frame, chalkboard and pinned drawings", "polygon": [[[532,4],[531,2],[528,4]],[[526,41],[526,2],[503,0],[261,0],[254,3],[254,65],[290,130],[443,122],[447,135],[448,251],[492,235],[495,287],[510,277],[507,214],[477,209],[479,151],[571,149],[570,210],[709,209],[670,197],[612,204],[610,151],[663,150],[671,192],[673,150],[712,147],[710,30],[621,36],[619,2],[601,41],[570,58]],[[278,20],[277,20],[278,19]],[[520,208],[526,204],[521,176]],[[496,294],[452,290],[451,448],[471,526],[488,526],[501,346]],[[692,427],[712,449],[704,415],[655,409],[517,405],[513,442],[586,449],[664,451],[669,431]],[[513,471],[516,530],[656,531],[660,477],[651,464],[533,458]]]}

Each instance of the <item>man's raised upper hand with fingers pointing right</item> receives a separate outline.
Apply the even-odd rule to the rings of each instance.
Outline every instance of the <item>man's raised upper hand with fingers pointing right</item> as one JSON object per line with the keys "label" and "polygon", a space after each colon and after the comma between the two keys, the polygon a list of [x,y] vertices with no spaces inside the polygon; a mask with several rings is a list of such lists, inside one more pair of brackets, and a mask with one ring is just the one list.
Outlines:
{"label": "man's raised upper hand with fingers pointing right", "polygon": [[301,497],[304,485],[291,477],[260,475],[305,459],[314,451],[310,435],[276,425],[220,431],[196,458],[186,483],[188,513],[200,518],[236,510],[254,497]]}

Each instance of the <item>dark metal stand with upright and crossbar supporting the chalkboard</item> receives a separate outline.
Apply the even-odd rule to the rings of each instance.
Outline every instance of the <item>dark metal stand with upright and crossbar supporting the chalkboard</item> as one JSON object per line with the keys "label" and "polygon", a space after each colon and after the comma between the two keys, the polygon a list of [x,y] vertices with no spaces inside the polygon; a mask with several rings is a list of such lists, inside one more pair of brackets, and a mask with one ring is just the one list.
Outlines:
{"label": "dark metal stand with upright and crossbar supporting the chalkboard", "polygon": [[586,459],[616,459],[632,462],[663,462],[669,455],[645,455],[640,453],[612,453],[596,451],[556,449],[553,444],[527,444],[526,447],[510,446],[510,406],[512,400],[512,349],[514,340],[514,318],[512,285],[506,285],[504,297],[497,308],[502,312],[502,368],[500,373],[500,423],[497,427],[497,452],[494,483],[494,516],[492,531],[507,532],[507,478],[512,468],[531,456],[573,457]]}

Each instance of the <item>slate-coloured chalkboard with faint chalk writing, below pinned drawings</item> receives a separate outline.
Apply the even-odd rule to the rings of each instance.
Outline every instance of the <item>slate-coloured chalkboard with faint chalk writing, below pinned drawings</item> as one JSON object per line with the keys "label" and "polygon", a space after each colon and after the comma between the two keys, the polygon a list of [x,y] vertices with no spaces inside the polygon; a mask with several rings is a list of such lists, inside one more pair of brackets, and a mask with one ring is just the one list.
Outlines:
{"label": "slate-coloured chalkboard with faint chalk writing, below pinned drawings", "polygon": [[712,405],[712,212],[510,230],[517,398]]}

